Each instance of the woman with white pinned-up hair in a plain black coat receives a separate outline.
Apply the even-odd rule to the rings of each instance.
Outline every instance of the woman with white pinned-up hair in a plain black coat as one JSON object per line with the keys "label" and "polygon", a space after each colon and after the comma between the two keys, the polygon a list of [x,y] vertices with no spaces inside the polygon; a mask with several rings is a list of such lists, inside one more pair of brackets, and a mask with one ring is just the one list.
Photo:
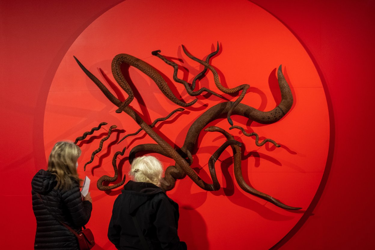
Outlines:
{"label": "woman with white pinned-up hair in a plain black coat", "polygon": [[178,205],[160,188],[162,164],[153,156],[133,160],[128,181],[116,198],[108,238],[117,249],[185,250],[177,235]]}

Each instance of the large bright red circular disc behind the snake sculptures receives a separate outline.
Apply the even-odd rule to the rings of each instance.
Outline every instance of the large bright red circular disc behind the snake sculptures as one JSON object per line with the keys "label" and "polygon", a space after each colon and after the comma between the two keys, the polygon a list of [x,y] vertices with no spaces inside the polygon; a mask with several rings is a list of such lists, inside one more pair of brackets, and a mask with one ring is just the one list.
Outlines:
{"label": "large bright red circular disc behind the snake sculptures", "polygon": [[[138,126],[126,114],[115,113],[116,107],[81,71],[73,55],[107,86],[109,82],[115,83],[111,60],[116,54],[138,57],[168,77],[175,86],[174,93],[190,102],[193,97],[186,94],[182,85],[173,82],[172,68],[152,56],[151,51],[160,49],[165,56],[182,59],[175,60],[182,66],[181,69],[185,68],[178,76],[191,82],[202,66],[184,55],[180,45],[184,44],[196,57],[204,58],[214,50],[216,41],[220,43],[220,52],[211,64],[219,71],[222,84],[229,88],[250,84],[250,92],[243,103],[254,108],[268,111],[278,104],[281,97],[275,69],[283,65],[294,96],[291,111],[281,121],[269,125],[233,116],[235,125],[254,131],[263,138],[272,138],[282,145],[281,148],[255,146],[254,138],[228,130],[225,118],[210,125],[230,131],[245,145],[245,180],[285,204],[303,209],[302,212],[283,210],[243,192],[234,178],[232,153],[228,149],[216,163],[222,189],[206,192],[189,178],[184,178],[168,192],[180,205],[181,240],[187,242],[189,249],[269,249],[296,225],[314,198],[326,166],[329,114],[317,70],[296,37],[275,17],[245,0],[231,1],[230,4],[228,1],[208,0],[128,0],[101,15],[73,43],[51,84],[44,119],[46,155],[54,142],[74,140],[102,121],[108,123],[79,143],[83,154],[78,170],[81,177],[87,175],[92,180],[94,209],[88,226],[102,249],[115,249],[106,235],[113,201],[121,188],[102,192],[96,188],[96,181],[102,175],[113,175],[111,160],[114,152],[128,147],[118,160],[125,159],[121,162],[122,173],[125,174],[130,149],[138,144],[154,142],[141,132],[115,144],[118,138],[135,132]],[[108,81],[99,68],[108,76]],[[162,95],[148,76],[133,67],[130,67],[129,74],[141,96],[141,99],[133,100],[131,106],[143,114],[148,123],[178,108]],[[210,72],[199,86],[219,92]],[[126,97],[125,93],[122,94]],[[195,105],[171,117],[169,120],[172,122],[158,124],[155,130],[163,138],[168,138],[171,145],[181,147],[192,122],[209,107],[222,101],[218,97],[206,97],[198,97]],[[118,130],[83,172],[84,163],[113,124]],[[215,133],[202,132],[199,136],[193,168],[206,181],[209,181],[207,160],[224,141]],[[165,166],[174,163],[166,157],[160,159]]]}

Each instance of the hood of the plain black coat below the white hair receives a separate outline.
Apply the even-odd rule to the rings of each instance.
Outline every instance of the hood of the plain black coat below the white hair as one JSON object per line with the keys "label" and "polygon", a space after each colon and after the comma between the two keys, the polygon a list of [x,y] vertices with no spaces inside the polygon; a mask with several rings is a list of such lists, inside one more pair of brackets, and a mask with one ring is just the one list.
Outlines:
{"label": "hood of the plain black coat below the white hair", "polygon": [[159,193],[164,193],[164,191],[152,183],[128,181],[121,193],[124,212],[132,214],[142,204]]}

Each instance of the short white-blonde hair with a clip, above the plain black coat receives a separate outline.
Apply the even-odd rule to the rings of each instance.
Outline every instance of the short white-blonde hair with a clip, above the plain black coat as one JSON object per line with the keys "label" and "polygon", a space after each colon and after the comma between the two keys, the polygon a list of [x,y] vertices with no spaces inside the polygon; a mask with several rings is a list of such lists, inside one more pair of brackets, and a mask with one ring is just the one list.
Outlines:
{"label": "short white-blonde hair with a clip, above the plain black coat", "polygon": [[162,178],[162,163],[153,156],[141,156],[133,160],[129,175],[135,181],[153,183],[160,186]]}

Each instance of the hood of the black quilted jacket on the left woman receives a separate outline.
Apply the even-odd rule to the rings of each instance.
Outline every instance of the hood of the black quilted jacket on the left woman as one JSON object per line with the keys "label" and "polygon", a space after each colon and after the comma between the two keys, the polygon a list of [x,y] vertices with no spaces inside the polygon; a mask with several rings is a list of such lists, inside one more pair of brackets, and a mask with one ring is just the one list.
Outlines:
{"label": "hood of the black quilted jacket on the left woman", "polygon": [[57,185],[55,175],[40,169],[31,181],[31,188],[40,195],[49,193]]}

